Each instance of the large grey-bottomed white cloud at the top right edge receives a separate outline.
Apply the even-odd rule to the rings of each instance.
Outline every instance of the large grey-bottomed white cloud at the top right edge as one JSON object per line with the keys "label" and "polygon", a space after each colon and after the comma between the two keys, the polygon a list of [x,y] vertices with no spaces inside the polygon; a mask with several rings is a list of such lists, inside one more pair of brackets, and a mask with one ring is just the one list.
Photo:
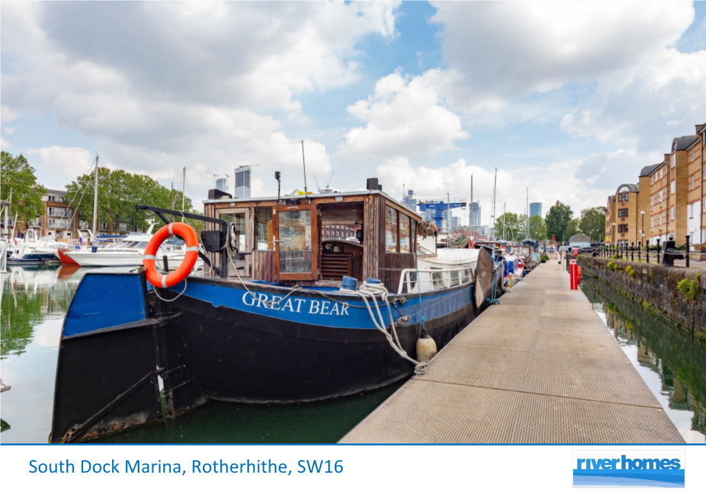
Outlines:
{"label": "large grey-bottomed white cloud at the top right edge", "polygon": [[662,1],[440,2],[444,59],[473,99],[505,102],[634,67],[674,44],[690,3]]}

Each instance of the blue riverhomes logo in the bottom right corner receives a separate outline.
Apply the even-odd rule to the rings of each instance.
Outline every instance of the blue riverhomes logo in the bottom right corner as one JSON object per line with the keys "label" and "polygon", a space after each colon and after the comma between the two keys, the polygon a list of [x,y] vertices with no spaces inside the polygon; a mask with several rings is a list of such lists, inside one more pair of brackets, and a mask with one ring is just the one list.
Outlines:
{"label": "blue riverhomes logo in the bottom right corner", "polygon": [[684,451],[574,451],[574,487],[684,487]]}

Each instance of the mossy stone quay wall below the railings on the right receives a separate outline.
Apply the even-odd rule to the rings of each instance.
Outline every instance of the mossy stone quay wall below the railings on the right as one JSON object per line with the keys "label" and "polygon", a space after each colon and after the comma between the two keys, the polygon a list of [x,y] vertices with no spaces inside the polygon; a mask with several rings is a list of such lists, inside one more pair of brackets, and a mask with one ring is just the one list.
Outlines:
{"label": "mossy stone quay wall below the railings on the right", "polygon": [[[615,270],[608,267],[614,263]],[[603,257],[579,256],[578,264],[584,276],[597,277],[627,293],[647,309],[662,315],[706,338],[706,274],[686,267],[665,267],[645,262],[614,260]],[[635,272],[628,274],[628,266]],[[679,291],[682,279],[698,281],[695,299],[690,301]]]}

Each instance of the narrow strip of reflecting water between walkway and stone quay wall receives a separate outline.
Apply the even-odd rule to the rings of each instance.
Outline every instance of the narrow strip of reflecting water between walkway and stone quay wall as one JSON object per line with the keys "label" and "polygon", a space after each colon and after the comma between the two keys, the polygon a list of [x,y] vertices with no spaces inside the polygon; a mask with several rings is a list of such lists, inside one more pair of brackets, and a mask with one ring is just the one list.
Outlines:
{"label": "narrow strip of reflecting water between walkway and stone quay wall", "polygon": [[581,288],[684,440],[706,442],[706,344],[601,281]]}

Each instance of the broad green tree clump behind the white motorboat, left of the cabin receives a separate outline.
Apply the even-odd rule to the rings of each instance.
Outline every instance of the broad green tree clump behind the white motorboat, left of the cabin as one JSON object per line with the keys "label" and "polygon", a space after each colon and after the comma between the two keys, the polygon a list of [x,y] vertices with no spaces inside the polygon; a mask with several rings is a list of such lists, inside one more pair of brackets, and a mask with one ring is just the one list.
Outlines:
{"label": "broad green tree clump behind the white motorboat, left of the cabin", "polygon": [[[76,212],[84,222],[93,220],[93,186],[95,170],[88,175],[79,176],[76,181],[66,186],[66,197],[71,200],[76,195]],[[81,193],[85,188],[83,198]],[[121,223],[129,224],[130,230],[145,230],[146,220],[155,218],[151,212],[138,212],[136,204],[152,205],[162,208],[181,209],[181,190],[172,190],[160,185],[154,178],[147,175],[130,174],[122,169],[110,170],[105,167],[98,169],[98,222],[112,222],[114,226]],[[80,203],[79,203],[80,201]],[[193,213],[191,199],[186,198],[184,210]],[[197,231],[201,223],[189,221]],[[197,225],[194,225],[197,224]]]}

